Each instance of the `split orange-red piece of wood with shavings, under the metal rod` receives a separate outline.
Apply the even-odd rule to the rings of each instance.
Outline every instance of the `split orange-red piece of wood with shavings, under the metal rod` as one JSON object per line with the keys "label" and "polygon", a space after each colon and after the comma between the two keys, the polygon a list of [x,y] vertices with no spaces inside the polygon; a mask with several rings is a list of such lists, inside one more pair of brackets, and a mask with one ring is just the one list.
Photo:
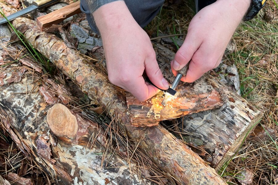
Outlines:
{"label": "split orange-red piece of wood with shavings, under the metal rod", "polygon": [[[202,84],[207,86],[199,91]],[[221,88],[213,88],[211,80],[200,79],[197,83],[178,85],[178,92],[171,96],[166,106],[161,105],[159,94],[147,101],[138,101],[133,95],[126,96],[129,119],[134,126],[154,126],[159,121],[175,119],[187,114],[221,107],[227,96]],[[161,94],[160,94],[161,95]]]}

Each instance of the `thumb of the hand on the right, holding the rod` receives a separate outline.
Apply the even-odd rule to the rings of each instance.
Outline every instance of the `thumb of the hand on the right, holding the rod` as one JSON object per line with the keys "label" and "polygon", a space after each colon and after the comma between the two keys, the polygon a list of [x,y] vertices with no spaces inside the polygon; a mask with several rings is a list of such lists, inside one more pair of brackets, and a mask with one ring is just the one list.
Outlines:
{"label": "thumb of the hand on the right, holding the rod", "polygon": [[182,69],[191,60],[195,51],[197,51],[197,49],[200,47],[202,43],[201,39],[198,39],[198,37],[195,35],[196,33],[188,33],[183,42],[183,45],[177,51],[175,60],[172,63],[172,67],[175,71]]}

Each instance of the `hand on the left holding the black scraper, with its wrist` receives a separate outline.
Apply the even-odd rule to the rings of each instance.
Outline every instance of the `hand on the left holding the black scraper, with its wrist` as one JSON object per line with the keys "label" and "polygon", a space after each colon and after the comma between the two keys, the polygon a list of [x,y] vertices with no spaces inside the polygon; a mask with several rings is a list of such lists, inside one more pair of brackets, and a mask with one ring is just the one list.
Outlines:
{"label": "hand on the left holding the black scraper, with its wrist", "polygon": [[[93,15],[102,36],[112,84],[131,92],[139,101],[154,96],[158,88],[169,88],[158,67],[149,36],[133,19],[124,1],[103,5]],[[144,70],[158,88],[145,82]]]}

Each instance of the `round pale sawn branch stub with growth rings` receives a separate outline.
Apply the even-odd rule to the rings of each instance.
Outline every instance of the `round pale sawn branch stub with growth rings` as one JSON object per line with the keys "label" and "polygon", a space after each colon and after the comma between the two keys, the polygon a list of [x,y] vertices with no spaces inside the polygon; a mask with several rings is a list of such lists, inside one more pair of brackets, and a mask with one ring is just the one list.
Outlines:
{"label": "round pale sawn branch stub with growth rings", "polygon": [[68,141],[76,138],[77,120],[66,106],[62,104],[53,105],[49,109],[46,119],[50,130],[59,138],[65,138]]}

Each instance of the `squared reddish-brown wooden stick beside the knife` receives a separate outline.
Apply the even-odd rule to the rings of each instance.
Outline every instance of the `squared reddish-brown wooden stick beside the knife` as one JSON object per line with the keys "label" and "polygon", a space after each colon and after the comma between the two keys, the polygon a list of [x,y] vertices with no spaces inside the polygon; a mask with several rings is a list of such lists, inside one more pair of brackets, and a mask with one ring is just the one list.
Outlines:
{"label": "squared reddish-brown wooden stick beside the knife", "polygon": [[40,30],[50,27],[53,24],[61,23],[64,19],[80,13],[80,1],[64,6],[59,10],[55,10],[49,14],[37,18],[37,25]]}

